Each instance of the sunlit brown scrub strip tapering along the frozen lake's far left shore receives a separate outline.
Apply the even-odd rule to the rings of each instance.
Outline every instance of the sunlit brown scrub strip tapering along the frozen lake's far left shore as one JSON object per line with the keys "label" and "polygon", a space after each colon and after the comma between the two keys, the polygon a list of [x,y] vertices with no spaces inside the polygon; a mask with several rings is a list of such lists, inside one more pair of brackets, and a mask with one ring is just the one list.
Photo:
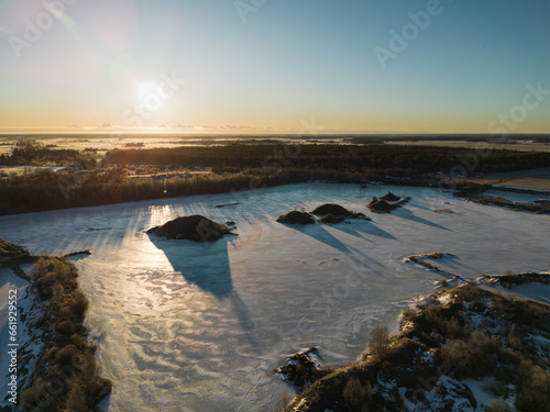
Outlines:
{"label": "sunlit brown scrub strip tapering along the frozen lake's far left shore", "polygon": [[[327,178],[332,177],[327,174]],[[309,180],[285,172],[248,170],[244,174],[194,174],[185,177],[124,177],[113,168],[91,172],[41,171],[0,180],[0,215],[55,209],[112,204],[190,194],[224,193]]]}

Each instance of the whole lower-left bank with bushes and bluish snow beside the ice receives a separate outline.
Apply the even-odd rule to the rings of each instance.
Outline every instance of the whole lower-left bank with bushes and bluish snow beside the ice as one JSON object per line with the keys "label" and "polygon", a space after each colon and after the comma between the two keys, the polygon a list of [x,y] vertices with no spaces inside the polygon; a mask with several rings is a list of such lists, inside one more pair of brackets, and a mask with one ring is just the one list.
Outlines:
{"label": "whole lower-left bank with bushes and bluish snow beside the ice", "polygon": [[[99,375],[97,347],[85,325],[88,299],[79,288],[76,266],[66,260],[82,252],[62,257],[33,256],[1,241],[2,254],[9,258],[0,267],[28,283],[22,287],[24,296],[13,304],[18,318],[13,337],[18,360],[15,375],[11,375],[14,389],[2,399],[0,410],[10,411],[15,404],[18,410],[25,411],[45,407],[51,411],[74,410],[77,405],[80,410],[96,411],[112,383]],[[31,260],[34,264],[29,276],[20,263]]]}

